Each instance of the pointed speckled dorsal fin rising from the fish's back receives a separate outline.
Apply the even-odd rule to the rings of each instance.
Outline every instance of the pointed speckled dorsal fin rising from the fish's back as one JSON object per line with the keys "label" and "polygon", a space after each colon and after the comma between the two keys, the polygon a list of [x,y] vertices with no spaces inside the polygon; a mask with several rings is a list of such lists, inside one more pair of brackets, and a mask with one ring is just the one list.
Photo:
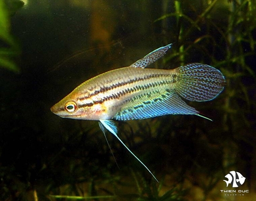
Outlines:
{"label": "pointed speckled dorsal fin rising from the fish's back", "polygon": [[163,57],[163,55],[166,53],[167,50],[171,48],[172,44],[166,45],[164,47],[159,47],[158,49],[154,50],[153,52],[150,52],[142,59],[136,61],[131,65],[131,67],[134,68],[145,68],[151,63],[155,62],[157,59]]}

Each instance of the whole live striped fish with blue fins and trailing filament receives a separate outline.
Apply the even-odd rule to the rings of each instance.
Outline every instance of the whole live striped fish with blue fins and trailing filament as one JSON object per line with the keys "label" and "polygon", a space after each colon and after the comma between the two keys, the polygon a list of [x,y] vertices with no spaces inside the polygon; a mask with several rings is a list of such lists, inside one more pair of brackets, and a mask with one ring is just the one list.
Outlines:
{"label": "whole live striped fish with blue fins and trailing filament", "polygon": [[158,181],[119,138],[116,121],[163,115],[197,115],[209,119],[184,100],[213,100],[225,86],[225,77],[218,69],[201,63],[175,69],[146,68],[163,57],[171,46],[159,47],[128,67],[85,81],[54,104],[51,111],[63,118],[98,120],[105,137],[106,131],[112,133]]}

